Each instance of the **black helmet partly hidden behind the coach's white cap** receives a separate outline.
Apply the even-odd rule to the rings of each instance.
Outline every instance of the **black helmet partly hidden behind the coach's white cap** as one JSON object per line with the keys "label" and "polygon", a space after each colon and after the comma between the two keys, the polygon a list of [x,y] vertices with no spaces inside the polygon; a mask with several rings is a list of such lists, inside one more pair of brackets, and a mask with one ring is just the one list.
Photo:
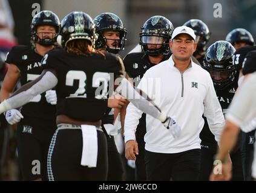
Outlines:
{"label": "black helmet partly hidden behind the coach's white cap", "polygon": [[211,36],[208,26],[200,19],[190,19],[183,25],[194,30],[196,36],[195,43],[197,43],[197,49],[195,50],[194,55],[205,55],[206,45]]}

